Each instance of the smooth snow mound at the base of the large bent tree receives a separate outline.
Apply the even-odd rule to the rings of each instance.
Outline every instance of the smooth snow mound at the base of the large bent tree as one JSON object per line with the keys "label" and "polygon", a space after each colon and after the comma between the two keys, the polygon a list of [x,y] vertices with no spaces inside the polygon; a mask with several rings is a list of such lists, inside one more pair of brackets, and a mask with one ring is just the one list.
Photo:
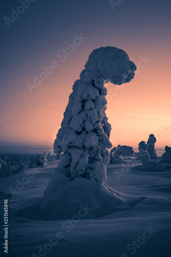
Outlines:
{"label": "smooth snow mound at the base of the large bent tree", "polygon": [[95,219],[132,208],[145,197],[130,196],[110,188],[104,181],[67,177],[69,168],[56,169],[44,196],[19,214],[30,219]]}

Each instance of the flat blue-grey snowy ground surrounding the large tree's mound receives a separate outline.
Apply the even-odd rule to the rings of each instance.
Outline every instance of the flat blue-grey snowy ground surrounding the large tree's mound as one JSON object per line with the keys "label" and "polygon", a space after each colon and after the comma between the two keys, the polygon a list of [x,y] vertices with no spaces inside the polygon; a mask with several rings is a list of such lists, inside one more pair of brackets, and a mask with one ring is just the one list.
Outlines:
{"label": "flat blue-grey snowy ground surrounding the large tree's mound", "polygon": [[[100,219],[30,221],[18,216],[17,209],[44,194],[57,163],[47,162],[47,167],[37,169],[36,174],[29,169],[26,174],[0,178],[1,224],[4,224],[4,199],[9,201],[7,256],[171,256],[171,170],[143,172],[127,165],[123,173],[123,164],[109,164],[108,185],[144,199],[130,209]],[[8,198],[4,191],[9,192],[10,188],[17,190],[17,195]],[[0,255],[5,256],[3,226],[0,233]]]}

